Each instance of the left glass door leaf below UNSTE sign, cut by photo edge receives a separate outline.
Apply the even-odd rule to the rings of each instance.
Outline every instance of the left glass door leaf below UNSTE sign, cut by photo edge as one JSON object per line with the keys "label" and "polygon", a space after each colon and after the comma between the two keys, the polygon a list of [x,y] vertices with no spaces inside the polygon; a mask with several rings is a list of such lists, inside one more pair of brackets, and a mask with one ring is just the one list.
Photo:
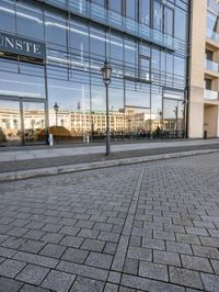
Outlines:
{"label": "left glass door leaf below UNSTE sign, cut by photo edge", "polygon": [[0,99],[0,146],[22,144],[20,101]]}

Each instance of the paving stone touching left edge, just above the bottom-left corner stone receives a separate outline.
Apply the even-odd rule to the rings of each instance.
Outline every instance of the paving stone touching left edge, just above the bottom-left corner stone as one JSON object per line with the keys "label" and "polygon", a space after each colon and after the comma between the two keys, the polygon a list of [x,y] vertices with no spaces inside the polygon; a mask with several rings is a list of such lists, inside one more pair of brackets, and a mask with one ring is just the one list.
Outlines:
{"label": "paving stone touching left edge, just above the bottom-left corner stone", "polygon": [[25,266],[22,261],[7,259],[0,265],[0,276],[14,278]]}

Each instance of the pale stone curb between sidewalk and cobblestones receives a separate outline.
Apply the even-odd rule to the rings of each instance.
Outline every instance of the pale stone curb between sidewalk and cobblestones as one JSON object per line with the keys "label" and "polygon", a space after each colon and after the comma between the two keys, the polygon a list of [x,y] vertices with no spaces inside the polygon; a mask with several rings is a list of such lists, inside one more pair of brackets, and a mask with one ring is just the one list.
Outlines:
{"label": "pale stone curb between sidewalk and cobblestones", "polygon": [[100,169],[100,168],[105,168],[105,167],[116,167],[116,166],[125,166],[125,165],[131,165],[131,164],[150,162],[150,161],[158,161],[158,160],[171,159],[171,158],[181,158],[181,157],[187,157],[187,156],[194,156],[194,155],[205,155],[205,154],[211,154],[211,153],[218,153],[218,151],[219,149],[191,150],[191,151],[181,151],[181,153],[172,153],[172,154],[161,154],[161,155],[122,158],[122,159],[114,159],[114,160],[94,161],[94,162],[78,164],[78,165],[10,171],[10,172],[0,173],[0,182],[31,179],[31,178],[37,178],[37,177],[44,177],[44,176],[64,175],[64,173],[85,171],[85,170],[94,170],[94,169]]}

